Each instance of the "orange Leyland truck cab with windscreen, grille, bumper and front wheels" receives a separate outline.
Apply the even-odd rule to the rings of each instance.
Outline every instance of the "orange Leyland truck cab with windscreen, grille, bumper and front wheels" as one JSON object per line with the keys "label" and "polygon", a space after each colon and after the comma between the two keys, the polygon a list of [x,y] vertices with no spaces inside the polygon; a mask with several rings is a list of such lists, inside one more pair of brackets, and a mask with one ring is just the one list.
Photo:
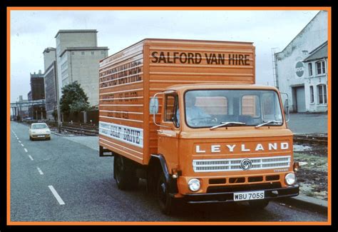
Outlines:
{"label": "orange Leyland truck cab with windscreen, grille, bumper and front wheels", "polygon": [[292,131],[275,87],[170,86],[150,99],[150,114],[158,126],[153,156],[168,172],[156,188],[163,212],[178,198],[265,207],[271,199],[298,195]]}

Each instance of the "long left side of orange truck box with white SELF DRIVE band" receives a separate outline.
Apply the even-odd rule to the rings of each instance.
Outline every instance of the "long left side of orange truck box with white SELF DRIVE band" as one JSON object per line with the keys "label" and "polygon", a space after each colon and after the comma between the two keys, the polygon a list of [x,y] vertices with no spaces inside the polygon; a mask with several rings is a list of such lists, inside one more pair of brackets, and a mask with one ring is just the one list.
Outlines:
{"label": "long left side of orange truck box with white SELF DRIVE band", "polygon": [[99,144],[138,163],[144,152],[143,42],[100,63]]}

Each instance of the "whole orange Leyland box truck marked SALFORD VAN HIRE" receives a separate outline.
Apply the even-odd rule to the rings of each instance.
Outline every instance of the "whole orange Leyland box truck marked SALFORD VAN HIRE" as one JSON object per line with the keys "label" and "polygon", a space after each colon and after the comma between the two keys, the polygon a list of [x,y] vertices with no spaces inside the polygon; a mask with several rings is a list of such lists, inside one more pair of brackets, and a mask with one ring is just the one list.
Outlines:
{"label": "whole orange Leyland box truck marked SALFORD VAN HIRE", "polygon": [[100,156],[121,190],[146,179],[163,213],[177,203],[297,196],[287,101],[255,85],[249,42],[144,39],[101,60]]}

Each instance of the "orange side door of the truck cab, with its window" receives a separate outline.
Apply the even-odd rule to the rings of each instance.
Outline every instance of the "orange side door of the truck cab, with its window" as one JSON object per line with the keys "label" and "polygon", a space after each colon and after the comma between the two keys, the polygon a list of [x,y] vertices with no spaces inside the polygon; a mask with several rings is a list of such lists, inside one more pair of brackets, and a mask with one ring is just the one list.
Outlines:
{"label": "orange side door of the truck cab, with its window", "polygon": [[166,94],[161,117],[161,125],[158,129],[158,153],[165,157],[168,171],[178,168],[178,142],[180,134],[180,119],[178,94]]}

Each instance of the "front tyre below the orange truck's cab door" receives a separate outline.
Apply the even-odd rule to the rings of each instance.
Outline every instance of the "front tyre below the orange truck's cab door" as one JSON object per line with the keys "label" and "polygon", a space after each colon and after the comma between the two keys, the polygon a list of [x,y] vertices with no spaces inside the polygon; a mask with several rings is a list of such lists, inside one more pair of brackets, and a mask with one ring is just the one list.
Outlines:
{"label": "front tyre below the orange truck's cab door", "polygon": [[158,182],[156,185],[156,195],[160,210],[165,215],[171,215],[174,213],[175,198],[169,195],[168,183],[165,180],[163,171],[160,172]]}

